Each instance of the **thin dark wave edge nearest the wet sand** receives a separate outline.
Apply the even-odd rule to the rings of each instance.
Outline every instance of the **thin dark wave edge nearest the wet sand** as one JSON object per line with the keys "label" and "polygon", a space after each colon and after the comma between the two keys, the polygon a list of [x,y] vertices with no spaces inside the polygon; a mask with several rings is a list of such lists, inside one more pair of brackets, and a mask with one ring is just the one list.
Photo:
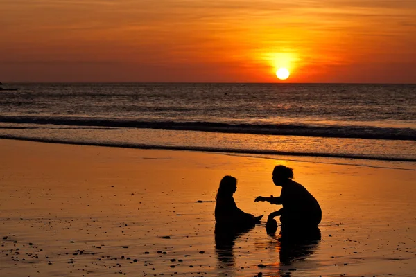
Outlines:
{"label": "thin dark wave edge nearest the wet sand", "polygon": [[116,148],[185,150],[185,151],[234,153],[234,154],[235,153],[237,154],[264,154],[264,155],[297,156],[297,157],[328,157],[328,158],[364,159],[364,160],[378,160],[378,161],[416,162],[415,158],[382,157],[382,156],[370,156],[370,155],[363,155],[363,154],[285,152],[285,151],[277,151],[277,150],[250,150],[250,149],[239,149],[239,148],[214,148],[214,147],[204,147],[204,146],[152,145],[152,144],[142,144],[142,143],[76,141],[76,140],[46,139],[46,138],[12,136],[12,135],[0,135],[0,139],[15,139],[19,141],[36,141],[36,142],[42,142],[42,143],[62,143],[62,144],[74,144],[74,145],[92,145],[92,146],[104,146],[104,147],[116,147]]}

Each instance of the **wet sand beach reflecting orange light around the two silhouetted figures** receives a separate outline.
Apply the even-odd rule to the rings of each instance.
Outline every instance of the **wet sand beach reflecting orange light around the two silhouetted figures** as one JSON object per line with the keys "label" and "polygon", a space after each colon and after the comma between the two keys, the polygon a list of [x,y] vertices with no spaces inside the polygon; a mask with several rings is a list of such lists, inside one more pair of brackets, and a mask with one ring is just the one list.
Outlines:
{"label": "wet sand beach reflecting orange light around the two silhouetted figures", "polygon": [[[414,276],[416,165],[60,145],[0,139],[0,276]],[[361,164],[364,162],[361,161]],[[272,168],[322,207],[306,238],[266,233]],[[392,168],[392,164],[395,168]],[[216,228],[220,179],[264,214]]]}

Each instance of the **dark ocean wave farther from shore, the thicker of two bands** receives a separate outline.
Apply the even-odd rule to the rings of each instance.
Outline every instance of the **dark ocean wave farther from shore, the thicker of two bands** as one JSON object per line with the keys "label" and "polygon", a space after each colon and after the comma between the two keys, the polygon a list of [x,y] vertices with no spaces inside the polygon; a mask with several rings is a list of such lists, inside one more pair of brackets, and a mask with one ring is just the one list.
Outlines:
{"label": "dark ocean wave farther from shore, the thicker of two bands", "polygon": [[416,141],[416,129],[352,126],[352,125],[306,125],[306,124],[250,124],[215,122],[177,122],[121,120],[110,118],[72,118],[40,116],[0,116],[2,123],[69,125],[94,127],[129,127],[147,129],[166,129],[199,132],[223,132],[235,134],[265,134],[285,136],[319,136],[327,138],[349,139],[385,139]]}

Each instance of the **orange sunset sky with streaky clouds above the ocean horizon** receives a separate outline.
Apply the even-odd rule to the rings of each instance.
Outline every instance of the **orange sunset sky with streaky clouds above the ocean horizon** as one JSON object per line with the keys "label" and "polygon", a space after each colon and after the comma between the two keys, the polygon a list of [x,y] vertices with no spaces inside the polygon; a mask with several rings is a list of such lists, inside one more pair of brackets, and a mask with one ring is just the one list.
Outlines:
{"label": "orange sunset sky with streaky clouds above the ocean horizon", "polygon": [[415,0],[0,0],[1,82],[416,83]]}

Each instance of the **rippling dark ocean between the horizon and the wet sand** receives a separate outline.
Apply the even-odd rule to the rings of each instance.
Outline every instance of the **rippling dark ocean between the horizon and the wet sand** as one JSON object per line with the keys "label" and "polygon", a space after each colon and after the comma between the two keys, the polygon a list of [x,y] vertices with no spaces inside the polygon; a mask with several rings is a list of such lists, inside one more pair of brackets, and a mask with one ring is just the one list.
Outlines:
{"label": "rippling dark ocean between the horizon and the wet sand", "polygon": [[416,162],[412,84],[10,84],[0,138]]}

